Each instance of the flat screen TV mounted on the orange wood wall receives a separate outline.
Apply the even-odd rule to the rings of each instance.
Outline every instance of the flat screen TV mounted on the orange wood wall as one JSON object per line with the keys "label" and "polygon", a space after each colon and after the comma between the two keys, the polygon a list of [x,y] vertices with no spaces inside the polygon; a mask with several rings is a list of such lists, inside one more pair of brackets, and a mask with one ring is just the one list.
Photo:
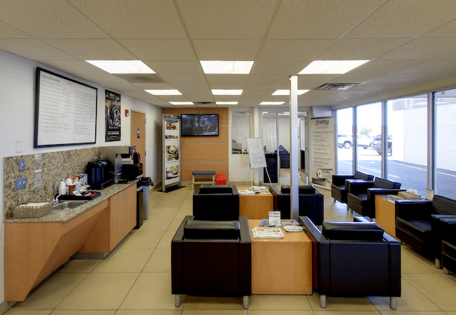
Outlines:
{"label": "flat screen TV mounted on the orange wood wall", "polygon": [[182,114],[182,137],[218,136],[218,114]]}

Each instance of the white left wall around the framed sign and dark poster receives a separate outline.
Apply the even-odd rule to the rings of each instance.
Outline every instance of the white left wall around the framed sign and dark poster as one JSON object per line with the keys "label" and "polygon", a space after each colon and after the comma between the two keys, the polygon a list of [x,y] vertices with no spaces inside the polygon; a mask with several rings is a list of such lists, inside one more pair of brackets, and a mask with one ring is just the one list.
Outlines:
{"label": "white left wall around the framed sign and dark poster", "polygon": [[[68,78],[98,88],[97,140],[95,145],[64,146],[58,148],[33,148],[34,144],[34,101],[36,67],[48,69]],[[115,91],[114,91],[115,92]],[[130,144],[130,117],[121,118],[121,141],[105,143],[105,88],[75,78],[67,73],[52,69],[38,62],[12,55],[0,50],[0,204],[4,211],[4,162],[3,158],[15,155],[65,151],[93,146],[119,146]],[[161,181],[161,108],[121,95],[121,109],[130,109],[146,114],[146,158],[145,176],[155,184]],[[16,150],[20,141],[22,150]],[[4,221],[0,225],[0,302],[4,302]]]}

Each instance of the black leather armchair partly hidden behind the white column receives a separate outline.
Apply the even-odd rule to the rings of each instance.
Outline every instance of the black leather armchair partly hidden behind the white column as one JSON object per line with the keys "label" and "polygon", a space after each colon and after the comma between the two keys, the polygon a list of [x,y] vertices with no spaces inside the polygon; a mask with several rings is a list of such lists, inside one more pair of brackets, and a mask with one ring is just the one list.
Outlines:
{"label": "black leather armchair partly hidden behind the white column", "polygon": [[[274,196],[274,210],[281,211],[281,218],[290,218],[290,186],[269,186]],[[308,216],[316,225],[323,223],[323,194],[314,186],[299,186],[300,216]]]}

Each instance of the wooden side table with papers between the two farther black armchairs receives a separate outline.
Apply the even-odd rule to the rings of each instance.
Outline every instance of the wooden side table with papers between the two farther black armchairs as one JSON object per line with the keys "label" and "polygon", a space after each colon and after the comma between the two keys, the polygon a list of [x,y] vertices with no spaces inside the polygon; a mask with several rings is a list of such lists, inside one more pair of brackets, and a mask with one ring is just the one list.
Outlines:
{"label": "wooden side table with papers between the two farther black armchairs", "polygon": [[[250,189],[250,187],[238,188]],[[262,219],[269,217],[269,211],[274,210],[274,197],[271,193],[255,194],[255,196],[239,194],[239,216],[249,219]]]}

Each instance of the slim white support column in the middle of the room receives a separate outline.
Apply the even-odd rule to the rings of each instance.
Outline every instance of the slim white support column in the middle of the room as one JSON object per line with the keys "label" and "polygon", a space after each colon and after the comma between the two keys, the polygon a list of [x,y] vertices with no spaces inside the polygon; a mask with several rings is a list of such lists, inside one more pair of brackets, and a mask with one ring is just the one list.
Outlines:
{"label": "slim white support column in the middle of the room", "polygon": [[290,214],[297,220],[300,212],[297,143],[297,75],[290,76]]}

